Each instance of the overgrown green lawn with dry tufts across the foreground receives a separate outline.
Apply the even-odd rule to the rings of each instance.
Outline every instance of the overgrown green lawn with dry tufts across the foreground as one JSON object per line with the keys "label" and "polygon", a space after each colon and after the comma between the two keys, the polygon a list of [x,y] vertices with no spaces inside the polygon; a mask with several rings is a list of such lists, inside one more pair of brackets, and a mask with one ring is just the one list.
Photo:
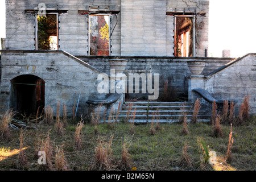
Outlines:
{"label": "overgrown green lawn with dry tufts across the foreground", "polygon": [[[22,140],[26,143],[24,152],[28,160],[26,168],[22,169],[16,165],[19,160],[20,132],[11,129],[10,139],[0,140],[0,170],[56,170],[56,157],[60,161],[65,160],[64,167],[61,168],[61,165],[58,167],[63,170],[89,170],[93,169],[93,164],[96,167],[94,169],[130,170],[136,167],[139,171],[254,170],[256,168],[255,121],[242,126],[233,126],[233,143],[230,143],[232,142],[230,125],[222,125],[222,137],[213,137],[213,126],[202,122],[188,123],[189,135],[180,134],[183,125],[179,123],[161,123],[162,130],[155,130],[154,135],[148,132],[151,123],[146,125],[133,123],[133,125],[134,132],[131,133],[131,123],[117,122],[114,128],[108,127],[108,123],[100,123],[97,127],[98,134],[95,135],[94,126],[85,123],[81,128],[82,150],[76,150],[74,142],[76,124],[69,123],[65,133],[58,135],[53,125],[38,123],[38,130],[26,130],[26,138]],[[203,153],[199,150],[198,142],[200,138],[204,140],[208,150],[216,151],[216,166],[202,167]],[[187,143],[189,147],[186,146]],[[102,147],[105,147],[105,152],[107,151],[104,154],[108,155],[103,163],[96,163],[100,162],[98,149]],[[38,157],[35,158],[38,151],[46,151],[46,166],[38,164]],[[226,160],[227,151],[232,151],[232,160]],[[61,158],[63,155],[65,158]],[[182,158],[187,160],[188,165],[181,165]],[[122,164],[126,162],[127,165],[118,165],[121,161]]]}

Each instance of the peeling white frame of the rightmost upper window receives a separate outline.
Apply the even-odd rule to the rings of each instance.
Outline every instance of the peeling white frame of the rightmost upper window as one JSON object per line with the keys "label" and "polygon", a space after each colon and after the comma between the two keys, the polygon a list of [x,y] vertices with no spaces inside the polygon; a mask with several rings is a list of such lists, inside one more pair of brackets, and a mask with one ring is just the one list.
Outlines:
{"label": "peeling white frame of the rightmost upper window", "polygon": [[196,57],[196,16],[195,15],[174,15],[174,52],[176,50],[177,18],[193,18],[193,57]]}

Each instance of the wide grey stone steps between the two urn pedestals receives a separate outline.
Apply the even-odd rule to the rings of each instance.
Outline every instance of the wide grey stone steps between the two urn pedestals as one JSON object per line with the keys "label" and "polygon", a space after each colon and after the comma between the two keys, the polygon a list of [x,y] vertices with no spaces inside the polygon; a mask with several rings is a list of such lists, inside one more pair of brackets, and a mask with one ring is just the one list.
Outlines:
{"label": "wide grey stone steps between the two urn pedestals", "polygon": [[[127,112],[129,110],[130,104],[130,119],[133,121],[133,113],[136,108],[136,114],[134,122],[151,122],[156,118],[158,122],[178,122],[179,118],[183,115],[183,104],[184,102],[126,102],[122,110],[119,112],[119,121],[125,120]],[[148,110],[148,111],[147,111]],[[156,110],[158,112],[155,115]],[[191,120],[193,115],[193,103],[185,102],[184,110],[187,113],[188,122]],[[210,116],[205,113],[205,111],[200,110],[198,113],[198,121],[209,121]]]}

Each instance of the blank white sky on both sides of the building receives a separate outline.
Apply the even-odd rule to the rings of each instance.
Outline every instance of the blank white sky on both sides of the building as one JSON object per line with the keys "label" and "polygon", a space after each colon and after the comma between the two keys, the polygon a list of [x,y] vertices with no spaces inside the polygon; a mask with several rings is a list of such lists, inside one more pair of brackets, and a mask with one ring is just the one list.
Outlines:
{"label": "blank white sky on both sides of the building", "polygon": [[[255,7],[255,0],[210,0],[208,56],[221,57],[223,49],[232,57],[256,52]],[[5,38],[5,0],[0,0],[0,38]]]}

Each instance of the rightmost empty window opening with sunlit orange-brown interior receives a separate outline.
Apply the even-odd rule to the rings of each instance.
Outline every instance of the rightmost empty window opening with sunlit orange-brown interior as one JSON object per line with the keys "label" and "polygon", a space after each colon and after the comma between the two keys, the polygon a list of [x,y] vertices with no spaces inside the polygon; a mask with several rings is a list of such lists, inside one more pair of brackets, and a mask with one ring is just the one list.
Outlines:
{"label": "rightmost empty window opening with sunlit orange-brown interior", "polygon": [[195,18],[175,16],[175,56],[195,56]]}

